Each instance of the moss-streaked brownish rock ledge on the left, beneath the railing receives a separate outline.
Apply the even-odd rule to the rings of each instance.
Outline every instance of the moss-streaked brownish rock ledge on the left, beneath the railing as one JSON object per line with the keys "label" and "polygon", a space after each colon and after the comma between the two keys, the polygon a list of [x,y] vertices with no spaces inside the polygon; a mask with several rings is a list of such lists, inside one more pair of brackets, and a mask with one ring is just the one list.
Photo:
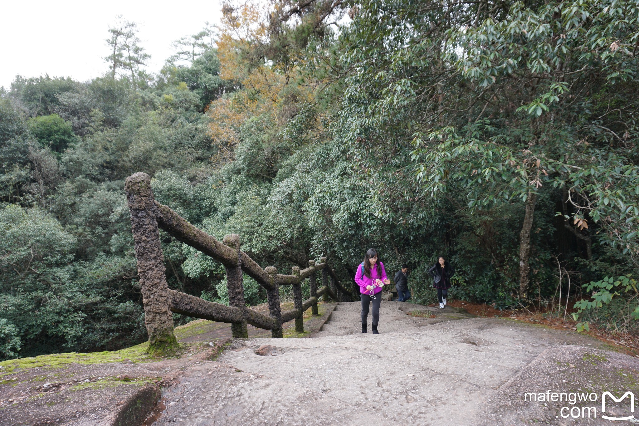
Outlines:
{"label": "moss-streaked brownish rock ledge on the left, beneath the railing", "polygon": [[[284,308],[289,305],[292,304],[284,303]],[[308,337],[319,330],[335,305],[320,303],[319,316],[311,317],[310,310],[305,314],[304,325],[309,333],[295,333],[295,323],[291,321],[284,324],[285,335]],[[268,314],[266,305],[254,309]],[[197,320],[176,328],[175,335],[182,353],[168,360],[150,356],[142,344],[116,352],[3,361],[0,426],[152,423],[164,411],[163,402],[158,404],[160,389],[173,388],[183,381],[181,377],[189,377],[191,370],[201,365],[217,365],[211,360],[231,338],[231,324]],[[270,330],[249,325],[249,336],[270,336]],[[280,352],[277,347],[265,349],[269,356]]]}

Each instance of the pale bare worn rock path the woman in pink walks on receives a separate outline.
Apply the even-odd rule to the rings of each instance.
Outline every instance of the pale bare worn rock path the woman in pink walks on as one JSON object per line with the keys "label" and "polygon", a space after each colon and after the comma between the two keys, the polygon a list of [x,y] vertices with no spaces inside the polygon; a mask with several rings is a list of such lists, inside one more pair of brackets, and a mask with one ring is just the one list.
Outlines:
{"label": "pale bare worn rock path the woman in pink walks on", "polygon": [[[415,309],[436,318],[406,315]],[[528,384],[547,386],[544,379],[557,371],[553,363],[564,362],[555,358],[572,348],[599,353],[601,347],[577,333],[389,301],[381,304],[380,334],[370,328],[364,334],[359,312],[359,303],[341,303],[311,339],[234,340],[215,362],[193,367],[163,391],[166,410],[154,424],[470,426],[512,425],[521,418],[528,424],[542,419],[539,407],[507,406],[505,399],[516,400],[514,393]],[[277,356],[256,354],[265,345],[277,347]],[[530,367],[542,358],[541,367]],[[635,358],[614,353],[610,360],[624,360],[624,374],[636,380]],[[580,367],[602,371],[592,363]],[[514,383],[520,387],[505,390]],[[592,386],[605,381],[597,383]],[[553,410],[546,410],[544,422],[579,424],[558,422]],[[579,422],[610,423],[593,420]]]}

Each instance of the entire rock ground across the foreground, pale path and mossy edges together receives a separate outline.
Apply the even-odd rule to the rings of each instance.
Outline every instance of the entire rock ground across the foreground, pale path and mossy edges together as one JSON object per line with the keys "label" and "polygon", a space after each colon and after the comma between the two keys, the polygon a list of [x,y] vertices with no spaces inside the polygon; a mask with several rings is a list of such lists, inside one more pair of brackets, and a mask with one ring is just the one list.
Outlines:
{"label": "entire rock ground across the foreground, pale path and mossy edges together", "polygon": [[[599,340],[403,302],[382,302],[378,335],[360,332],[359,303],[320,313],[305,320],[309,339],[249,326],[254,337],[219,353],[210,340],[230,326],[194,321],[176,328],[189,351],[173,360],[0,369],[0,425],[631,424],[601,418],[601,399],[587,404],[597,418],[576,419],[560,417],[565,404],[523,400],[546,390],[639,395],[639,360]],[[606,414],[627,414],[627,400],[612,402]]]}

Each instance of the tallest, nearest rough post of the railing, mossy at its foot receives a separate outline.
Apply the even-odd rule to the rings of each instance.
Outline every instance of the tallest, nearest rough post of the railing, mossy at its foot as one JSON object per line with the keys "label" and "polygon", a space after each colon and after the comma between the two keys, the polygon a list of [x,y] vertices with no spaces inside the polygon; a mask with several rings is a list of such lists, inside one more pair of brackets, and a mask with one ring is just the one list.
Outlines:
{"label": "tallest, nearest rough post of the railing, mossy at its foot", "polygon": [[135,173],[125,182],[131,228],[135,243],[137,273],[142,287],[144,324],[149,335],[148,353],[163,354],[178,347],[173,334],[173,314],[169,287],[166,284],[164,255],[155,218],[155,198],[151,179],[146,173]]}

